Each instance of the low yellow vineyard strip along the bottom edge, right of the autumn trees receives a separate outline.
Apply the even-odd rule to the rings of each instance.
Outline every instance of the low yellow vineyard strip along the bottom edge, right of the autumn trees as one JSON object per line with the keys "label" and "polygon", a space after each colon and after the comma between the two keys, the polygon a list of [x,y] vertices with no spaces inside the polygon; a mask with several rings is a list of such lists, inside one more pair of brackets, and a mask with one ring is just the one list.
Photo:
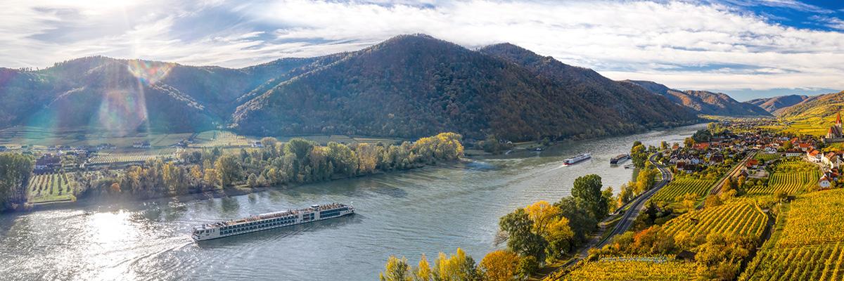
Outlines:
{"label": "low yellow vineyard strip along the bottom edge, right of the autumn trees", "polygon": [[617,257],[587,262],[559,280],[694,280],[695,262],[666,257]]}

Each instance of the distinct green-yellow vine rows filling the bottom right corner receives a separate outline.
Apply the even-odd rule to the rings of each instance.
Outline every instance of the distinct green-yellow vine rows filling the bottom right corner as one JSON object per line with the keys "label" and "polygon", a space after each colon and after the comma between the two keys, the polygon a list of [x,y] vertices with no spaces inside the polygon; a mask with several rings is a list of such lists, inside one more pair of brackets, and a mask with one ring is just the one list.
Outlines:
{"label": "distinct green-yellow vine rows filling the bottom right corner", "polygon": [[760,251],[739,280],[844,279],[844,245],[774,248]]}

